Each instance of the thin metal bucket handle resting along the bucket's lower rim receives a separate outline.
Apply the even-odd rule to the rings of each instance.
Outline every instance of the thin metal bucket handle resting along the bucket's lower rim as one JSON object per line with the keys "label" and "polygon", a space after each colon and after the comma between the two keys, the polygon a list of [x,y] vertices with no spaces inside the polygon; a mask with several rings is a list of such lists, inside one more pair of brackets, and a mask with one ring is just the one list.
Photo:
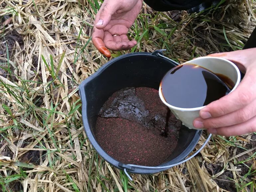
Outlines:
{"label": "thin metal bucket handle resting along the bucket's lower rim", "polygon": [[[208,141],[211,139],[211,135],[212,134],[209,134],[208,138],[205,140],[205,142],[202,144],[202,146],[196,151],[194,152],[194,154],[192,154],[189,158],[187,159],[184,159],[178,163],[174,163],[174,164],[171,164],[171,165],[166,165],[166,166],[157,166],[157,167],[151,167],[151,166],[142,166],[142,165],[133,165],[133,164],[127,164],[126,166],[129,166],[131,168],[141,168],[141,169],[170,169],[176,165],[179,165],[179,164],[182,164],[182,163],[185,163],[186,161],[192,159],[195,155],[197,155],[202,149],[203,147],[208,143]],[[132,177],[129,175],[129,173],[127,172],[127,168],[124,168],[124,173],[126,174],[126,176],[130,179],[130,181],[132,181]]]}

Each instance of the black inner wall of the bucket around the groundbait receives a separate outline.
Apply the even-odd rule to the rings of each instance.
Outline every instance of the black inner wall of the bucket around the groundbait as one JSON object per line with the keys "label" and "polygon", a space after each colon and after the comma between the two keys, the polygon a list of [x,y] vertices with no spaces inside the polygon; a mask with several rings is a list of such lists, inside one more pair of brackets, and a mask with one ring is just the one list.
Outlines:
{"label": "black inner wall of the bucket around the groundbait", "polygon": [[[174,66],[165,58],[146,53],[128,54],[111,60],[103,66],[93,78],[85,83],[84,93],[80,93],[85,94],[86,101],[82,102],[86,102],[86,114],[83,115],[86,115],[86,121],[88,121],[89,130],[86,131],[88,138],[94,137],[99,110],[115,91],[125,87],[150,87],[158,90],[162,77]],[[88,132],[91,132],[91,135]],[[182,126],[175,150],[162,165],[169,165],[184,159],[197,144],[200,133]],[[89,138],[90,141],[91,139]],[[94,148],[97,150],[95,145],[97,144],[94,143]],[[115,163],[112,164],[115,165]],[[118,167],[118,165],[115,166]]]}

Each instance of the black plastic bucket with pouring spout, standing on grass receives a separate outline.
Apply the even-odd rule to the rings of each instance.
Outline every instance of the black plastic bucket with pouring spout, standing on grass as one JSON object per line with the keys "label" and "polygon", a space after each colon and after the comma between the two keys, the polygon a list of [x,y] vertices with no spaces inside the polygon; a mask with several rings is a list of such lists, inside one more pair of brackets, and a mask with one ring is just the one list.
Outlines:
{"label": "black plastic bucket with pouring spout, standing on grass", "polygon": [[80,84],[79,93],[86,135],[98,154],[111,165],[130,173],[151,174],[160,172],[174,164],[182,163],[181,161],[192,152],[198,143],[202,131],[182,126],[177,147],[166,162],[157,167],[136,167],[125,165],[112,158],[100,147],[94,137],[93,130],[99,110],[115,91],[125,87],[159,89],[160,81],[165,73],[177,65],[178,63],[175,61],[165,58],[161,51],[130,53],[110,60]]}

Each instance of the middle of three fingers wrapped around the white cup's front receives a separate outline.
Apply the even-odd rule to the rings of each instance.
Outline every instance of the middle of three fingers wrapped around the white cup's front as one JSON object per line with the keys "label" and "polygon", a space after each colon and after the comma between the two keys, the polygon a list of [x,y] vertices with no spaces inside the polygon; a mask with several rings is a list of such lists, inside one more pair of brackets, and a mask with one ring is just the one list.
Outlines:
{"label": "middle of three fingers wrapped around the white cup's front", "polygon": [[194,120],[193,124],[194,127],[198,129],[227,127],[246,122],[254,116],[256,116],[256,100],[246,107],[224,116],[209,119],[197,118]]}

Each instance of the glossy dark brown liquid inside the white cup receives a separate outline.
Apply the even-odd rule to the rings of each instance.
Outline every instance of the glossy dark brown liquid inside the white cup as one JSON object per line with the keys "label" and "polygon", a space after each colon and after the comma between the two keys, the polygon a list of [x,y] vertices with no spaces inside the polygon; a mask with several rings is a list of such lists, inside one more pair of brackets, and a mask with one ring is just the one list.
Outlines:
{"label": "glossy dark brown liquid inside the white cup", "polygon": [[172,106],[195,108],[208,105],[227,95],[234,82],[194,64],[183,64],[166,73],[161,81],[164,99]]}

